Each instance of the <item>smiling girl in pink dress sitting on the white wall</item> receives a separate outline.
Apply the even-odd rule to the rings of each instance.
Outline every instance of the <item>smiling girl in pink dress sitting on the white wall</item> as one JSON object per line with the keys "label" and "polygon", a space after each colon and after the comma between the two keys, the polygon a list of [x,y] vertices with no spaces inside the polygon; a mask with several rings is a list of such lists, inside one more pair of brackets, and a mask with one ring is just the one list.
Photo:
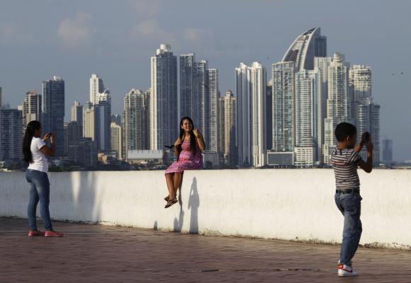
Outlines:
{"label": "smiling girl in pink dress sitting on the white wall", "polygon": [[201,151],[205,149],[203,136],[198,129],[193,129],[193,120],[184,117],[180,122],[180,135],[174,142],[174,154],[177,161],[166,170],[167,188],[169,195],[164,198],[165,208],[179,202],[176,198],[177,190],[181,186],[185,170],[198,170],[202,165]]}

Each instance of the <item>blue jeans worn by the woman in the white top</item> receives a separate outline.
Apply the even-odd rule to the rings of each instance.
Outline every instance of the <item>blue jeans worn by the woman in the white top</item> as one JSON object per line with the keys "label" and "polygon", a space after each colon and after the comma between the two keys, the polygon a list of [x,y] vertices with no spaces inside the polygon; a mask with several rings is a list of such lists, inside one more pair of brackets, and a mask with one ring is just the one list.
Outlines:
{"label": "blue jeans worn by the woman in the white top", "polygon": [[48,206],[50,204],[50,182],[47,173],[37,170],[28,169],[26,171],[26,180],[30,183],[30,200],[28,202],[28,226],[31,231],[37,230],[35,223],[35,212],[37,204],[40,200],[40,214],[43,219],[45,229],[52,231],[50,212]]}

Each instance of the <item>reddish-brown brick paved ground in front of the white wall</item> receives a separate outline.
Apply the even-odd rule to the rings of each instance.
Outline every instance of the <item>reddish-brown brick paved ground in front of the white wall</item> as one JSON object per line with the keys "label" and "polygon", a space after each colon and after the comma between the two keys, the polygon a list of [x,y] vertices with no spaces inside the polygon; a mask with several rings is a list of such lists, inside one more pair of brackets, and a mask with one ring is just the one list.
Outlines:
{"label": "reddish-brown brick paved ground in front of the white wall", "polygon": [[56,222],[30,238],[0,218],[0,282],[411,282],[411,252],[360,248],[338,278],[339,247]]}

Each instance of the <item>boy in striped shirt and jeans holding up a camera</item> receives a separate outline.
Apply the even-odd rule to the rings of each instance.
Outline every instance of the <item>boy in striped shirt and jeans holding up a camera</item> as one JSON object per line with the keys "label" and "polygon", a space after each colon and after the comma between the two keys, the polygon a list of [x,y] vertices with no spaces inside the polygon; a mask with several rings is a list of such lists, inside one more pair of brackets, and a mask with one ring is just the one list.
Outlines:
{"label": "boy in striped shirt and jeans holding up a camera", "polygon": [[[361,135],[356,145],[356,127],[342,122],[335,128],[338,147],[332,152],[332,167],[335,175],[335,204],[344,215],[342,246],[338,262],[338,276],[356,276],[352,268],[352,258],[361,238],[361,200],[358,166],[371,173],[373,170],[373,144],[368,132]],[[367,161],[359,155],[363,146],[367,149]]]}

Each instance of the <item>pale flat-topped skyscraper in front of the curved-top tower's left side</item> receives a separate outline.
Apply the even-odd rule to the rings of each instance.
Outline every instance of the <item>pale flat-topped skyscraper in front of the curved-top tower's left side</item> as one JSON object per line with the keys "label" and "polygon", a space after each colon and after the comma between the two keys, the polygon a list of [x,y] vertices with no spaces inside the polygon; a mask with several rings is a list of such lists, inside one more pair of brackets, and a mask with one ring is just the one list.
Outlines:
{"label": "pale flat-topped skyscraper in front of the curved-top tower's left side", "polygon": [[295,68],[293,62],[273,64],[273,148],[293,152],[295,146]]}

